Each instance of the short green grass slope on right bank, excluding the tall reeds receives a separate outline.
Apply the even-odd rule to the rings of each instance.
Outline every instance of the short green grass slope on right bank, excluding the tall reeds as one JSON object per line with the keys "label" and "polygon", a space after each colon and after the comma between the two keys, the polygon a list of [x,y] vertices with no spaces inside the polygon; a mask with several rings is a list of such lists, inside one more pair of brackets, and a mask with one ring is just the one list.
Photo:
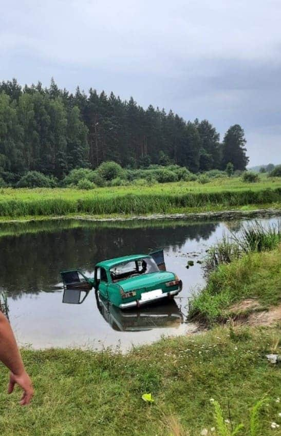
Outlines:
{"label": "short green grass slope on right bank, excluding the tall reeds", "polygon": [[190,301],[189,317],[209,324],[226,320],[229,307],[245,298],[257,298],[265,308],[280,304],[281,245],[219,264],[207,286]]}

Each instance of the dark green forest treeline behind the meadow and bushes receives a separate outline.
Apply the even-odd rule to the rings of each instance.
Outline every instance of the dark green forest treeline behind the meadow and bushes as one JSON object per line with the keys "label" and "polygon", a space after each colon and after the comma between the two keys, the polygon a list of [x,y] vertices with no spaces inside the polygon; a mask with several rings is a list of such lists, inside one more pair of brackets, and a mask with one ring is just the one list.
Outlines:
{"label": "dark green forest treeline behind the meadow and bushes", "polygon": [[15,183],[27,171],[61,180],[73,168],[97,168],[115,161],[126,168],[150,164],[185,166],[191,172],[244,170],[248,163],[243,129],[234,125],[220,143],[207,120],[184,121],[172,111],[122,101],[112,92],[88,94],[0,84],[0,176]]}

